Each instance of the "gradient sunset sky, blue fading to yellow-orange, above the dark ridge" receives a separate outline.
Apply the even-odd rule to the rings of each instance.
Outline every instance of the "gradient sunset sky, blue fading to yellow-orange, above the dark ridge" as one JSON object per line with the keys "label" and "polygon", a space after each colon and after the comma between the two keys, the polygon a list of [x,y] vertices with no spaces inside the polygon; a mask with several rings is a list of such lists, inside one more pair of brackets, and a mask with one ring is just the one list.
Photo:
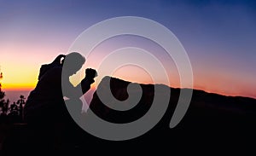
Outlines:
{"label": "gradient sunset sky, blue fading to yellow-orange, above the dark ridge", "polygon": [[[3,90],[32,90],[42,64],[67,54],[88,27],[119,16],[148,18],[170,29],[189,55],[195,89],[256,98],[256,1],[248,0],[0,0]],[[173,62],[145,38],[111,38],[96,47],[85,65],[96,68],[104,54],[128,46],[152,51],[169,69],[172,86],[179,86]],[[137,66],[124,66],[114,76],[151,82]]]}

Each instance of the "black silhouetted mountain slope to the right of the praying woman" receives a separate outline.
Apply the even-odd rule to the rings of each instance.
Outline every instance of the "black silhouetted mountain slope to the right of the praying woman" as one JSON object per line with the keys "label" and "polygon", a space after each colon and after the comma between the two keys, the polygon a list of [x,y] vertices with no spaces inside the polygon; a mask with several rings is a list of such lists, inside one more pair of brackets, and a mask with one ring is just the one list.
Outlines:
{"label": "black silhouetted mountain slope to the right of the praying woman", "polygon": [[[136,107],[121,112],[106,107],[97,95],[97,91],[104,91],[108,86],[105,77],[99,84],[90,102],[90,111],[97,116],[113,122],[127,123],[141,118],[147,113],[154,98],[154,85],[141,84],[143,95]],[[110,79],[113,96],[122,101],[128,98],[126,88],[130,82],[118,78]],[[160,85],[160,84],[157,84]],[[166,87],[165,85],[160,85]],[[160,122],[143,136],[125,142],[108,142],[107,147],[118,146],[122,149],[126,145],[137,145],[138,150],[149,150],[170,147],[206,148],[209,150],[231,150],[232,148],[247,149],[256,139],[256,100],[247,97],[233,97],[193,90],[189,109],[183,120],[173,129],[169,128],[172,114],[177,106],[180,90],[171,90],[169,107]],[[136,91],[136,90],[134,90]],[[111,102],[111,101],[110,101]],[[160,104],[160,103],[159,103]],[[102,140],[99,139],[99,142]],[[106,141],[104,141],[106,142]],[[110,144],[109,144],[110,143]],[[165,147],[166,145],[167,148]],[[140,146],[146,146],[145,148]],[[152,147],[152,148],[151,148]],[[244,147],[244,148],[242,148]],[[136,147],[135,147],[136,148]],[[232,149],[234,150],[234,149]]]}

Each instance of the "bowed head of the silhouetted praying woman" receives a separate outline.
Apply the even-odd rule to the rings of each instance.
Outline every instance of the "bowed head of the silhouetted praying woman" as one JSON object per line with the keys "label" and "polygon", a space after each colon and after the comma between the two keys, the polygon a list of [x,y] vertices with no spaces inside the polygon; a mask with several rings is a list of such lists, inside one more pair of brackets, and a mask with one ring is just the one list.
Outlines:
{"label": "bowed head of the silhouetted praying woman", "polygon": [[65,71],[62,72],[71,76],[79,71],[79,69],[84,65],[84,62],[85,58],[83,55],[80,55],[78,52],[72,52],[66,55],[63,63],[63,69],[65,69]]}

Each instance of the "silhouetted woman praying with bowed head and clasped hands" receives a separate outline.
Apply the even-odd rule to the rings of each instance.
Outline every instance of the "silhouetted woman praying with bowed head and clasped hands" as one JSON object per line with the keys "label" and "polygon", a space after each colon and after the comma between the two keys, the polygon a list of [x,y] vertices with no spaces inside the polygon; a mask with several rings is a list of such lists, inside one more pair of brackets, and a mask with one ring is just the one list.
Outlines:
{"label": "silhouetted woman praying with bowed head and clasped hands", "polygon": [[[97,76],[96,70],[87,68],[80,84],[73,86],[70,83],[69,77],[78,72],[84,62],[84,56],[73,52],[58,55],[52,63],[41,66],[38,84],[28,95],[24,107],[24,119],[28,124],[49,128],[56,123],[70,122],[64,96],[69,99],[66,103],[72,106],[71,111],[79,116],[83,105],[79,98],[90,90],[90,84]],[[65,90],[62,91],[63,87]]]}

